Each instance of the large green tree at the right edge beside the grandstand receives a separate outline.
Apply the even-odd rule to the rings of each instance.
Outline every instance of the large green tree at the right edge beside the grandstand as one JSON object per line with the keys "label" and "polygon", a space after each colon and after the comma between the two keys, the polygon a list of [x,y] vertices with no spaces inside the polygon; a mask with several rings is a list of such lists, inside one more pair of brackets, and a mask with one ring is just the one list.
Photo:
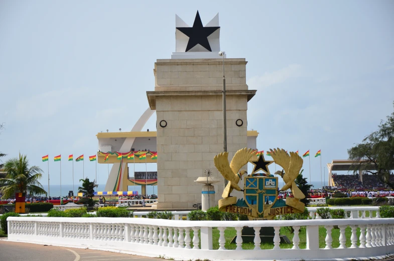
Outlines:
{"label": "large green tree at the right edge beside the grandstand", "polygon": [[394,183],[390,181],[390,171],[394,169],[394,112],[387,116],[386,121],[380,121],[377,131],[347,153],[349,160],[357,162],[352,166],[353,173],[366,171],[376,174],[380,181],[394,189]]}

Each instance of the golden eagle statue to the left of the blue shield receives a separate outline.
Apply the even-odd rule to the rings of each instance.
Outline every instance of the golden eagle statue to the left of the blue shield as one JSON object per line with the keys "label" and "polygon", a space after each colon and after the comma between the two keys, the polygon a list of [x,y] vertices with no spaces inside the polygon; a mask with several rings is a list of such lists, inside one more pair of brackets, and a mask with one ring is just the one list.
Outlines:
{"label": "golden eagle statue to the left of the blue shield", "polygon": [[249,159],[255,154],[255,150],[252,149],[241,149],[237,151],[228,164],[228,152],[222,152],[213,158],[216,168],[228,180],[227,186],[223,190],[222,197],[228,198],[233,189],[241,191],[238,186],[238,182],[243,174],[247,174],[246,171],[240,171],[243,165],[249,162]]}

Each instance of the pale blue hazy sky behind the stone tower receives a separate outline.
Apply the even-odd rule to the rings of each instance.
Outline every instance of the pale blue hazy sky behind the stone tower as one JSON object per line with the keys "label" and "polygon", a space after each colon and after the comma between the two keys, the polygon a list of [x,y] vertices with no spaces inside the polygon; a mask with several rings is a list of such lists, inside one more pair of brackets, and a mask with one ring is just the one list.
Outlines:
{"label": "pale blue hazy sky behind the stone tower", "polygon": [[[312,182],[321,180],[318,150],[322,167],[347,159],[393,111],[392,1],[3,0],[2,160],[26,154],[46,184],[41,157],[49,154],[51,184],[59,184],[53,157],[61,154],[62,184],[72,184],[67,156],[84,154],[85,176],[94,179],[87,159],[97,151],[95,135],[130,131],[149,106],[156,59],[175,52],[175,14],[192,26],[197,10],[204,25],[219,13],[221,49],[248,61],[246,81],[257,92],[247,127],[259,132],[257,149],[310,150]],[[155,118],[145,128],[156,129]],[[107,166],[97,169],[104,184]],[[304,169],[309,176],[308,158]],[[74,175],[82,178],[82,162]]]}

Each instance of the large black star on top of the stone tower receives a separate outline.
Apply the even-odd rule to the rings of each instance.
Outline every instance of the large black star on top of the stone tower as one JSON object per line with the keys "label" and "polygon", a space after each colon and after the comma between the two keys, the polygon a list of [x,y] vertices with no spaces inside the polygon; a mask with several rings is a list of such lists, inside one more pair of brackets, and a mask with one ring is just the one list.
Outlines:
{"label": "large black star on top of the stone tower", "polygon": [[186,36],[189,37],[189,42],[187,43],[186,51],[189,51],[196,45],[201,45],[208,51],[212,52],[211,46],[209,45],[208,42],[208,36],[210,36],[213,32],[218,30],[220,27],[219,26],[213,26],[213,27],[203,27],[200,14],[197,11],[196,18],[194,19],[194,24],[193,27],[177,27],[179,31],[184,33]]}

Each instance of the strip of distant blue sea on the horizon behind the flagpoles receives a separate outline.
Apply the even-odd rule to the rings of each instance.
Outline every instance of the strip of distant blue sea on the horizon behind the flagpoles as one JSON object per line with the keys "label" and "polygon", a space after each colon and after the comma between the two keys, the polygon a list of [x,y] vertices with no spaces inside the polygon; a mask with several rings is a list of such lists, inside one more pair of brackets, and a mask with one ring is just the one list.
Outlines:
{"label": "strip of distant blue sea on the horizon behind the flagpoles", "polygon": [[[312,181],[312,185],[313,188],[312,189],[320,189],[322,188],[321,186],[321,182],[314,182]],[[78,186],[80,186],[80,184],[78,185],[74,185],[74,194],[77,195],[78,192]],[[283,181],[282,179],[279,179],[279,187],[283,186]],[[324,184],[323,184],[324,186]],[[325,183],[325,186],[327,186],[327,181]],[[48,192],[48,185],[43,185],[45,191]],[[60,185],[51,185],[50,186],[50,196],[52,197],[57,197],[60,196]],[[98,188],[95,189],[95,191],[104,191],[105,189],[105,184],[99,184]],[[72,185],[62,185],[62,196],[68,196],[68,192],[72,189]],[[141,194],[141,186],[128,186],[128,191],[132,191],[132,190],[136,190],[138,191],[138,194]],[[152,195],[152,194],[157,194],[157,186],[148,186],[148,195]]]}

